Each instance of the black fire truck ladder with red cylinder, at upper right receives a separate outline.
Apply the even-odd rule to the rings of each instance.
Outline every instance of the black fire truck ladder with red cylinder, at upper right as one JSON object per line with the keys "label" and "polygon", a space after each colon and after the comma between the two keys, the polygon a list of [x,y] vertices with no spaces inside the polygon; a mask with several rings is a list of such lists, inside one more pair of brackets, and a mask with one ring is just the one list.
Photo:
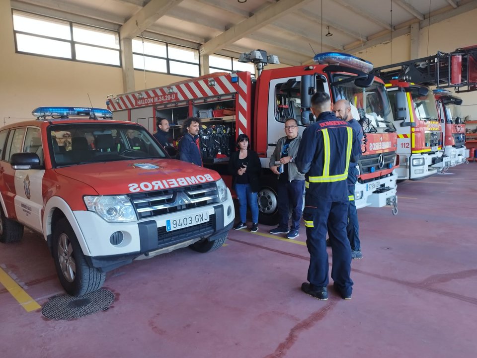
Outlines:
{"label": "black fire truck ladder with red cylinder, at upper right", "polygon": [[440,89],[454,88],[455,92],[474,91],[477,90],[477,45],[377,67],[374,73],[388,82],[404,80]]}

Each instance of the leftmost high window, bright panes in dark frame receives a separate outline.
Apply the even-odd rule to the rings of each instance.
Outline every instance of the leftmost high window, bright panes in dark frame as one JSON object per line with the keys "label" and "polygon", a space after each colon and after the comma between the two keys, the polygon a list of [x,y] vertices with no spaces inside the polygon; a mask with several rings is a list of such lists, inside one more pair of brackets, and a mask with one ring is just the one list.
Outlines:
{"label": "leftmost high window, bright panes in dark frame", "polygon": [[120,66],[117,32],[20,11],[13,30],[19,53]]}

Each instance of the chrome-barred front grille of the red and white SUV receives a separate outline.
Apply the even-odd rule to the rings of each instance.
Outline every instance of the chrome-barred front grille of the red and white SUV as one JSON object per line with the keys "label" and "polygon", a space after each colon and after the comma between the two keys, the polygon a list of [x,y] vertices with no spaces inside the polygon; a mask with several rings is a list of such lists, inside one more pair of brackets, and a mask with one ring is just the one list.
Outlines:
{"label": "chrome-barred front grille of the red and white SUV", "polygon": [[139,219],[219,202],[215,182],[130,194]]}

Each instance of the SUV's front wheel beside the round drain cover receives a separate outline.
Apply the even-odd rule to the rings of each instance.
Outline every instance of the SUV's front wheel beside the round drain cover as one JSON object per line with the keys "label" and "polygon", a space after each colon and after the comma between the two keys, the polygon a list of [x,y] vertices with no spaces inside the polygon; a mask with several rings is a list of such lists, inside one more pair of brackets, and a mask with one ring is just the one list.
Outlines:
{"label": "SUV's front wheel beside the round drain cover", "polygon": [[81,296],[101,288],[106,273],[89,267],[75,232],[66,219],[53,231],[53,259],[61,285],[72,296]]}

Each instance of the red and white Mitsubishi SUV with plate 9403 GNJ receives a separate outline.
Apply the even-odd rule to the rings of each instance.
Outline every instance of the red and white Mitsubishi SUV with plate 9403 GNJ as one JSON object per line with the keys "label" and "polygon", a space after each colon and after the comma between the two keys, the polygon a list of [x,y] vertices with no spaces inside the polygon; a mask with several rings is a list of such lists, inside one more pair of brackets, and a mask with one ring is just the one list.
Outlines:
{"label": "red and white Mitsubishi SUV with plate 9403 GNJ", "polygon": [[71,295],[107,271],[189,246],[222,246],[235,218],[220,175],[170,159],[141,125],[107,109],[40,107],[0,129],[0,242],[41,234]]}

